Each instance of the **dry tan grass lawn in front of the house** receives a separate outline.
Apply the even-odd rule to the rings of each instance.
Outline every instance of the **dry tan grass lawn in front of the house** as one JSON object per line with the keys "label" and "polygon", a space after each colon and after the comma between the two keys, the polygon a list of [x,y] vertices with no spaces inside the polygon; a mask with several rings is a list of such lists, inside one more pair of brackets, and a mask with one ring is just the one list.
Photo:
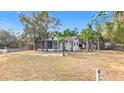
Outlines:
{"label": "dry tan grass lawn in front of the house", "polygon": [[42,56],[39,51],[0,54],[0,80],[124,80],[124,52],[76,52]]}

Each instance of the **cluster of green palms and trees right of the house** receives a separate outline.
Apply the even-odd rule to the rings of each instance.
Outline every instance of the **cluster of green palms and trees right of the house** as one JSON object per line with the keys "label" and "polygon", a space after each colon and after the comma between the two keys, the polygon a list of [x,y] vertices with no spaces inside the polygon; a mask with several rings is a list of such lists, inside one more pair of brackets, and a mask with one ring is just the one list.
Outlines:
{"label": "cluster of green palms and trees right of the house", "polygon": [[105,49],[107,42],[111,49],[115,44],[124,44],[124,12],[98,12],[86,29],[81,32],[88,52],[92,44],[97,44],[98,51]]}

